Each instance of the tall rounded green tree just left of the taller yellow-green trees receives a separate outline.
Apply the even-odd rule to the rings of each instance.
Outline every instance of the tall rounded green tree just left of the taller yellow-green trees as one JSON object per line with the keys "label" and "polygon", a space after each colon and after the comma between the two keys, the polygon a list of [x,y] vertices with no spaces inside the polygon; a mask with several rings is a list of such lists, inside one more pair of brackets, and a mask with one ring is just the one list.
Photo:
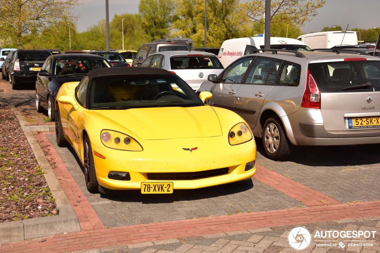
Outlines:
{"label": "tall rounded green tree just left of the taller yellow-green trees", "polygon": [[166,38],[176,20],[176,0],[140,0],[141,27],[152,40]]}

